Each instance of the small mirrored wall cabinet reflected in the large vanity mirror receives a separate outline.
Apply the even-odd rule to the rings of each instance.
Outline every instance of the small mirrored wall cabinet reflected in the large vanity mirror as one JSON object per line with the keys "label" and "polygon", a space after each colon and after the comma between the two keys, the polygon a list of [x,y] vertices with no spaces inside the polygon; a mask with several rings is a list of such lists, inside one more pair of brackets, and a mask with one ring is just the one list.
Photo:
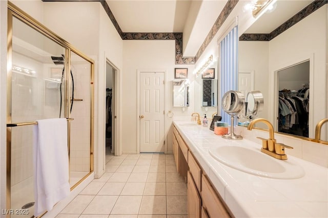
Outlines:
{"label": "small mirrored wall cabinet reflected in the large vanity mirror", "polygon": [[202,106],[216,107],[217,96],[217,80],[202,79]]}

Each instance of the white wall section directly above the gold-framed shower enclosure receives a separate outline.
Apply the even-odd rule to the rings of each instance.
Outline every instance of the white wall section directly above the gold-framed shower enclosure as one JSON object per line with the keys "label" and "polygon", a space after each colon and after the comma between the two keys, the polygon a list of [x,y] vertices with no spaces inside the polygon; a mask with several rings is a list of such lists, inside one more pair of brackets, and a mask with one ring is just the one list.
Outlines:
{"label": "white wall section directly above the gold-framed shower enclosure", "polygon": [[98,2],[45,2],[44,25],[93,58],[99,46],[99,5]]}

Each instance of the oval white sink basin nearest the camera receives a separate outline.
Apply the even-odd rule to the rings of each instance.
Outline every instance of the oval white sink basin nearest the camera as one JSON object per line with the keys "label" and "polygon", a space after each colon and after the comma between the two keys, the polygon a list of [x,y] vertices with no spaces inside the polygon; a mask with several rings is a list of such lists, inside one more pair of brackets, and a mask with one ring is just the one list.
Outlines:
{"label": "oval white sink basin nearest the camera", "polygon": [[301,166],[290,160],[278,160],[255,148],[241,146],[212,147],[212,157],[239,171],[276,179],[297,179],[304,176]]}

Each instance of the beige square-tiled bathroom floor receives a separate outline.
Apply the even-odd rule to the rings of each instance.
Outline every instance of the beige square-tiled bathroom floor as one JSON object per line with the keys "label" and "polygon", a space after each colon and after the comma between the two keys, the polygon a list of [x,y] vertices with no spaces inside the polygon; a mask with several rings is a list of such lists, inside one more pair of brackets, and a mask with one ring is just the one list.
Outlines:
{"label": "beige square-tiled bathroom floor", "polygon": [[56,217],[187,218],[187,185],[173,155],[106,155],[106,173]]}

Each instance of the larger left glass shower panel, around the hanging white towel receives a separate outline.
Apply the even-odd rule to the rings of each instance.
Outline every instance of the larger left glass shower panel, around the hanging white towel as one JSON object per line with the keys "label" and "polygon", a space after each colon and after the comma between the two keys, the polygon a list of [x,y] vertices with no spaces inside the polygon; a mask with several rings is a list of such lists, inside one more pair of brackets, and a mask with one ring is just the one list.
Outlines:
{"label": "larger left glass shower panel, around the hanging white towel", "polygon": [[[35,122],[57,118],[59,114],[63,117],[64,62],[52,59],[63,54],[63,46],[13,17],[9,123]],[[11,217],[31,217],[34,212],[33,126],[7,129],[11,134],[10,208],[23,208],[29,213],[11,214]]]}

